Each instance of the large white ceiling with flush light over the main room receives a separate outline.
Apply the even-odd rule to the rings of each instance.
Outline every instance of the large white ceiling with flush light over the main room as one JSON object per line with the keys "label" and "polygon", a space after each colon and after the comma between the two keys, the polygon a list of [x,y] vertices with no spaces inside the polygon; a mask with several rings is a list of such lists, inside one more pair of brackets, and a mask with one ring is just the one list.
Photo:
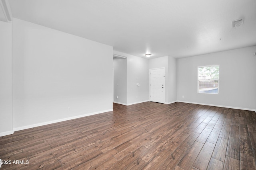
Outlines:
{"label": "large white ceiling with flush light over the main room", "polygon": [[[138,57],[190,57],[256,45],[256,0],[9,0],[25,21]],[[244,25],[232,28],[232,21]]]}

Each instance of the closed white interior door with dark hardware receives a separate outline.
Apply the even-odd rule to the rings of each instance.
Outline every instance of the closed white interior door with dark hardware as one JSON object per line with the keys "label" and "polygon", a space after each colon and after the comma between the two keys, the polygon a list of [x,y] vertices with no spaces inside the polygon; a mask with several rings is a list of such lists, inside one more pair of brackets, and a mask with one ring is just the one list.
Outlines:
{"label": "closed white interior door with dark hardware", "polygon": [[164,103],[164,68],[150,69],[150,101]]}

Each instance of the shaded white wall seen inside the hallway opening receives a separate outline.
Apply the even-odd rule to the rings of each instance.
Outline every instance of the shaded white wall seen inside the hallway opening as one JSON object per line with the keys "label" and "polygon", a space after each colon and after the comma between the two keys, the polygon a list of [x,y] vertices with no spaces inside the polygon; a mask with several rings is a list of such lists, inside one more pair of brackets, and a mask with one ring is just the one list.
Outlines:
{"label": "shaded white wall seen inside the hallway opening", "polygon": [[[127,104],[127,59],[113,59],[114,102]],[[118,98],[116,98],[118,96]]]}

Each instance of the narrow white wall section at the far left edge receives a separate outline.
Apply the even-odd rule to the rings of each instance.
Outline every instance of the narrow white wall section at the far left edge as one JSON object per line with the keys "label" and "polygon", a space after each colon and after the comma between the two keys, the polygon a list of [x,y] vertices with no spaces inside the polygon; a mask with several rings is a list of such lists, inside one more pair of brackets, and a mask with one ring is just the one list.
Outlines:
{"label": "narrow white wall section at the far left edge", "polygon": [[0,136],[12,129],[12,23],[0,21]]}

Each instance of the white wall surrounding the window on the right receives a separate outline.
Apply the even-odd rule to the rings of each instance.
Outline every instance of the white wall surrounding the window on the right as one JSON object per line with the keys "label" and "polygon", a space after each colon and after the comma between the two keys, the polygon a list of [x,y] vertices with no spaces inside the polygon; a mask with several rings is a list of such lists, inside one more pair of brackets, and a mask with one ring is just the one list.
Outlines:
{"label": "white wall surrounding the window on the right", "polygon": [[[253,52],[255,46],[178,59],[177,100],[255,109],[256,57]],[[207,65],[220,65],[220,94],[197,93],[197,67]]]}

